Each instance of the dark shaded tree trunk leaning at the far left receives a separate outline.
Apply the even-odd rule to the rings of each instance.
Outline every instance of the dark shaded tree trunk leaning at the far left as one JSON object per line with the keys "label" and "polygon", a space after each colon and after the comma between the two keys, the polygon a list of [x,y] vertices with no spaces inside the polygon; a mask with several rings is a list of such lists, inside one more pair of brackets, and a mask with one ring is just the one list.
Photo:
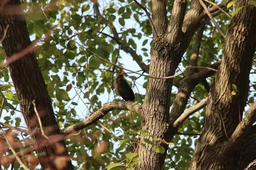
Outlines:
{"label": "dark shaded tree trunk leaning at the far left", "polygon": [[[12,8],[12,5],[16,7]],[[24,17],[21,14],[16,15],[18,6],[20,6],[20,2],[18,0],[9,0],[4,9],[0,12],[1,39],[3,37],[4,30],[7,25],[9,25],[6,37],[2,42],[7,58],[22,51],[31,44]],[[63,169],[73,169],[63,138],[60,138],[58,143],[51,140],[53,137],[47,141],[40,131],[38,119],[34,111],[35,108],[33,106],[33,101],[35,101],[36,110],[40,115],[45,135],[60,135],[60,129],[54,117],[52,103],[48,95],[42,73],[36,61],[35,54],[28,54],[22,59],[11,63],[9,65],[9,70],[28,129],[30,132],[37,129],[36,132],[32,134],[35,145],[42,144],[43,141],[44,143],[52,143],[47,147],[38,147],[36,149],[42,169],[57,169],[56,166],[63,166]],[[56,147],[58,147],[58,149],[61,147],[63,150],[57,152]]]}

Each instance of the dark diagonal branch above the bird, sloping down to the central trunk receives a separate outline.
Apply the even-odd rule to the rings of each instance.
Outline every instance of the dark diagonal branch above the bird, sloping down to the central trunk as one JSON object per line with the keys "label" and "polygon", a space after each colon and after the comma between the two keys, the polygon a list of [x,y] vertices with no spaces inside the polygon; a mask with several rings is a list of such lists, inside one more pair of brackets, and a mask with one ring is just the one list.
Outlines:
{"label": "dark diagonal branch above the bird, sloping down to the central trunk", "polygon": [[106,18],[104,18],[101,14],[100,14],[100,10],[99,10],[99,5],[98,2],[95,1],[94,2],[94,12],[96,14],[96,16],[99,18],[99,20],[104,23],[105,25],[107,25],[110,30],[113,33],[113,36],[108,35],[106,33],[102,33],[108,37],[111,37],[112,39],[114,39],[119,45],[120,48],[125,51],[126,53],[130,54],[132,56],[132,58],[134,59],[134,61],[136,61],[136,63],[140,66],[140,68],[148,73],[149,71],[149,66],[146,65],[143,61],[142,61],[142,57],[140,57],[136,51],[134,51],[131,47],[129,47],[129,45],[127,45],[126,43],[123,43],[120,39],[120,37],[118,36],[118,32],[116,31],[116,28],[114,27],[114,25],[112,23],[108,23],[108,20],[106,20]]}

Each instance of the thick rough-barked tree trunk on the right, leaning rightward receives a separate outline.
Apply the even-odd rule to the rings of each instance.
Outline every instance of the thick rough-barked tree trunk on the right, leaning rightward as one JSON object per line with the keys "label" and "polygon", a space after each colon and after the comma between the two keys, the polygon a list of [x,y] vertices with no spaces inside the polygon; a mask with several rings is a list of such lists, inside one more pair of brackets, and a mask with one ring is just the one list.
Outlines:
{"label": "thick rough-barked tree trunk on the right, leaning rightward", "polygon": [[[239,0],[234,5],[235,9],[245,7],[232,18],[228,27],[222,63],[210,89],[202,136],[196,144],[191,170],[233,170],[239,167],[241,149],[245,148],[229,146],[228,139],[246,105],[249,72],[256,48],[256,8],[247,2]],[[232,84],[238,88],[235,96],[231,95]]]}

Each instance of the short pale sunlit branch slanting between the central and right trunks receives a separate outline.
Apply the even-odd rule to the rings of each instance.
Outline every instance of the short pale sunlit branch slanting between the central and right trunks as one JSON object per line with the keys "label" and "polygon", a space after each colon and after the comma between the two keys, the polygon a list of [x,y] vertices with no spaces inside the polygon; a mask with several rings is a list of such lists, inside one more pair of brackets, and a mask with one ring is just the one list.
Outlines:
{"label": "short pale sunlit branch slanting between the central and right trunks", "polygon": [[205,99],[201,100],[201,102],[199,102],[195,106],[192,106],[192,107],[189,107],[188,109],[186,109],[186,111],[184,111],[180,115],[180,117],[174,122],[173,127],[178,128],[179,125],[181,125],[181,123],[183,123],[190,115],[192,115],[196,111],[204,108],[207,105],[207,99],[208,98],[205,98]]}

